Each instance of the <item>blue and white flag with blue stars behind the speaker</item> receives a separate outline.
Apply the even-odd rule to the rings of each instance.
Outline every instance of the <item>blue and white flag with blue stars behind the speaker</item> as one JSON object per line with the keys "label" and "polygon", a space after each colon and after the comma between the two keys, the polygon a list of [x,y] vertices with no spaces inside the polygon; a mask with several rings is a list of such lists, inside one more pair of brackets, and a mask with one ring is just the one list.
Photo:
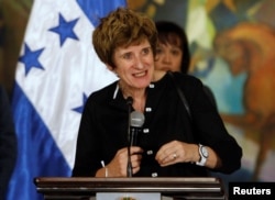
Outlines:
{"label": "blue and white flag with blue stars behind the speaker", "polygon": [[69,177],[87,97],[117,80],[91,44],[99,18],[125,0],[35,0],[12,98],[18,162],[8,200],[43,199],[35,177]]}

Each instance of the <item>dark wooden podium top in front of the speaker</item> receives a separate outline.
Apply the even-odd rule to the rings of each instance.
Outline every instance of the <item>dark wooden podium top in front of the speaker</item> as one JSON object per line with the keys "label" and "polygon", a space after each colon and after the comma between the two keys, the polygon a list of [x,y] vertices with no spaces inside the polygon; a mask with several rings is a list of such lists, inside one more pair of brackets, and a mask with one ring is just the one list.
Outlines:
{"label": "dark wooden podium top in front of the speaker", "polygon": [[[124,193],[160,193],[162,199],[222,199],[227,196],[219,178],[65,178],[37,177],[34,179],[37,192],[45,200],[90,200],[98,195],[109,195],[108,200],[151,200],[147,198],[124,198]],[[112,198],[119,193],[121,198]]]}

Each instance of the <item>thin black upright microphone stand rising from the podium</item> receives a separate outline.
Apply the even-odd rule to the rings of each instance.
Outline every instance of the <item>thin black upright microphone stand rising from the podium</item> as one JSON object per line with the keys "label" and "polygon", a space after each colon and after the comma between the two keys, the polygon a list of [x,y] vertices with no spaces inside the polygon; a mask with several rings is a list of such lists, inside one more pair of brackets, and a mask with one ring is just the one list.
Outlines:
{"label": "thin black upright microphone stand rising from the podium", "polygon": [[128,103],[128,165],[127,165],[127,176],[128,177],[132,177],[132,163],[131,163],[131,152],[130,152],[130,147],[131,147],[131,141],[132,141],[132,136],[131,136],[131,111],[132,111],[132,103],[133,103],[133,98],[132,97],[128,97],[127,99],[127,103]]}

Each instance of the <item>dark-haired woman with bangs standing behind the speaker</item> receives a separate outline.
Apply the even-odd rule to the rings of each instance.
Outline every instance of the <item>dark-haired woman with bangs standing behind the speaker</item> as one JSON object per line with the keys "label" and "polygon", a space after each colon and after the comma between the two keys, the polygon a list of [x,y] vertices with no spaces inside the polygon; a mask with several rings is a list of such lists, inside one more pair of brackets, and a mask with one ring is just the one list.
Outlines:
{"label": "dark-haired woman with bangs standing behind the speaker", "polygon": [[[160,73],[160,70],[188,74],[191,57],[188,37],[184,29],[170,21],[158,21],[155,24],[158,33],[155,59],[156,74]],[[210,88],[204,86],[204,90],[212,104],[217,107],[215,96]]]}

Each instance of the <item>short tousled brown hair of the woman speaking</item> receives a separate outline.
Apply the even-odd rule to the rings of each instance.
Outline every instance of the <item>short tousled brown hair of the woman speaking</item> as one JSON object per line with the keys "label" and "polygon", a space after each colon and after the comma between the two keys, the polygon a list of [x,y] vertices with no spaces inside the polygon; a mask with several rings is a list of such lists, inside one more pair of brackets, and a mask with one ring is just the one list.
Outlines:
{"label": "short tousled brown hair of the woman speaking", "polygon": [[101,62],[116,67],[112,62],[117,47],[139,44],[148,40],[153,54],[156,52],[157,31],[155,23],[143,13],[118,8],[106,18],[92,33],[92,44]]}

